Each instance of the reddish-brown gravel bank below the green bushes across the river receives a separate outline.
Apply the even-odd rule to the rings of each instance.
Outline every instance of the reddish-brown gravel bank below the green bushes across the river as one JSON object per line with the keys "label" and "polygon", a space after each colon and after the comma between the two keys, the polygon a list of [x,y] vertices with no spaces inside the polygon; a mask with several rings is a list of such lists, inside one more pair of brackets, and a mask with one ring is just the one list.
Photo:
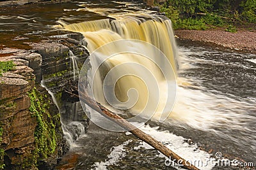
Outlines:
{"label": "reddish-brown gravel bank below the green bushes across the river", "polygon": [[256,53],[256,32],[238,31],[232,33],[220,30],[177,30],[175,31],[175,35],[178,36],[179,39],[202,41],[241,50],[243,52]]}

